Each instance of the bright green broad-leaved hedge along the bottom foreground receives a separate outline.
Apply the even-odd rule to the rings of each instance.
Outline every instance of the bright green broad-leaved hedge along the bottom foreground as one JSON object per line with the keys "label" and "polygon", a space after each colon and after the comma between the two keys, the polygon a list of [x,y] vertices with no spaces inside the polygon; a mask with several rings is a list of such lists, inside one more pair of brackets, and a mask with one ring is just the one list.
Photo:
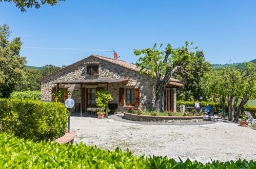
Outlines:
{"label": "bright green broad-leaved hedge along the bottom foreground", "polygon": [[256,168],[256,161],[238,160],[203,164],[198,161],[176,162],[162,156],[134,156],[101,150],[85,144],[33,142],[0,134],[0,166],[2,168]]}

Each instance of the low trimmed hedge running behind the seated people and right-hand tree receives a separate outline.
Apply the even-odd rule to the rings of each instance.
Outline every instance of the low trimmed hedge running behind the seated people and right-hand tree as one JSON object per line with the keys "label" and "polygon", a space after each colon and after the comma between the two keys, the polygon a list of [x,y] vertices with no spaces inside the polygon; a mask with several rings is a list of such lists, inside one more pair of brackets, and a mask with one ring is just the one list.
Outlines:
{"label": "low trimmed hedge running behind the seated people and right-hand tree", "polygon": [[[181,101],[180,100],[180,101],[176,102],[176,107],[177,108],[180,108],[180,103],[185,103],[186,107],[194,107],[194,102],[192,102],[192,101]],[[200,104],[200,107],[206,107],[207,104],[210,104],[210,107],[215,112],[218,112],[218,109],[222,109],[222,103],[200,101],[199,104]],[[226,109],[227,109],[227,104],[226,104]],[[244,112],[244,111],[248,111],[248,112],[251,113],[252,116],[255,116],[256,107],[250,106],[250,105],[244,105],[244,107],[242,109],[242,112]]]}

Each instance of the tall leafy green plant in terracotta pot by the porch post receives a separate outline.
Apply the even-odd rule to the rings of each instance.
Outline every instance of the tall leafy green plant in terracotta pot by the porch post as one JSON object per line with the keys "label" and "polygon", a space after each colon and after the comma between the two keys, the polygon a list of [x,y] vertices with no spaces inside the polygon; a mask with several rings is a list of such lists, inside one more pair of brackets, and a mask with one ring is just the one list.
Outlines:
{"label": "tall leafy green plant in terracotta pot by the porch post", "polygon": [[108,118],[108,112],[110,112],[108,109],[108,103],[113,100],[111,94],[108,93],[108,91],[100,90],[95,93],[95,96],[96,105],[99,107],[99,112],[97,112],[98,118],[103,119],[105,114]]}

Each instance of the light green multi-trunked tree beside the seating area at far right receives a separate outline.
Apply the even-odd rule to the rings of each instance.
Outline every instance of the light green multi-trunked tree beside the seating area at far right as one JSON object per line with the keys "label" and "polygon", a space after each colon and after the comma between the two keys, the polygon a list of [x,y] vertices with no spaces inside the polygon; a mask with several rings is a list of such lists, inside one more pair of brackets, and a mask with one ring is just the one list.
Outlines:
{"label": "light green multi-trunked tree beside the seating area at far right", "polygon": [[246,70],[227,67],[206,74],[205,79],[205,89],[209,95],[223,98],[223,108],[227,100],[227,114],[230,121],[233,121],[234,117],[238,121],[243,106],[249,99],[255,98],[256,66],[252,62],[246,63]]}

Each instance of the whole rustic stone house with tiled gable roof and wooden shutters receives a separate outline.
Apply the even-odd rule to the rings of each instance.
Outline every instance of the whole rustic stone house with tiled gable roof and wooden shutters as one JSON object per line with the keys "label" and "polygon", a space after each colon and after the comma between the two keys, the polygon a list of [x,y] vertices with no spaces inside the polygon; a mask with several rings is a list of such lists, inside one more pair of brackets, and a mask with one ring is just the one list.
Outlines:
{"label": "whole rustic stone house with tiled gable roof and wooden shutters", "polygon": [[[42,100],[54,101],[53,93],[62,89],[67,91],[62,101],[74,99],[75,112],[96,107],[95,92],[103,88],[111,93],[113,100],[109,107],[115,107],[116,111],[127,111],[128,107],[152,110],[155,78],[140,74],[139,70],[129,62],[92,54],[38,81],[41,81]],[[166,111],[176,111],[176,89],[181,86],[181,81],[170,78],[165,92]]]}

